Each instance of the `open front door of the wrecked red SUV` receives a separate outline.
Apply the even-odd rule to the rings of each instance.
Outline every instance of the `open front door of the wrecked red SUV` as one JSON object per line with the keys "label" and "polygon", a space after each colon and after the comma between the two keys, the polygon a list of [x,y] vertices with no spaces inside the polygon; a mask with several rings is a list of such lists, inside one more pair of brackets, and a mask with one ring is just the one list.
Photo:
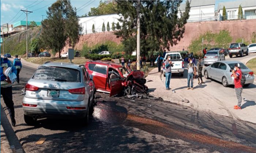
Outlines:
{"label": "open front door of the wrecked red SUV", "polygon": [[116,95],[123,91],[121,78],[116,72],[114,72],[114,71],[109,72],[109,83],[110,83],[110,85],[109,85],[110,86],[110,94],[109,94],[110,97],[112,95]]}

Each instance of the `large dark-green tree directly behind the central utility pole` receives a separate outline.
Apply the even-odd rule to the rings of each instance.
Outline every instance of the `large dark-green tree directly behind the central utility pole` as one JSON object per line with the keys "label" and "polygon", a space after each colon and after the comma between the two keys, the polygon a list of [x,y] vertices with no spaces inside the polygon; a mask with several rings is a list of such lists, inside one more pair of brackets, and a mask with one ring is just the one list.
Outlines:
{"label": "large dark-green tree directly behind the central utility pole", "polygon": [[136,47],[138,7],[141,12],[139,16],[142,54],[147,55],[147,52],[160,51],[163,48],[169,49],[177,44],[184,35],[190,11],[190,2],[186,1],[185,11],[179,12],[181,3],[182,1],[117,1],[118,14],[123,16],[118,21],[123,25],[115,34],[123,38],[125,51],[131,53]]}

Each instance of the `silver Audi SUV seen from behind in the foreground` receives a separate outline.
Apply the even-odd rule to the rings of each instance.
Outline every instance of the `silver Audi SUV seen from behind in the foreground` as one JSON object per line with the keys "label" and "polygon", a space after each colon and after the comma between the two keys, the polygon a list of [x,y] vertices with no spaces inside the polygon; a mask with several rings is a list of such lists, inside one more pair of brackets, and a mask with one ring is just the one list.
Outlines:
{"label": "silver Audi SUV seen from behind in the foreground", "polygon": [[87,124],[94,89],[94,82],[83,65],[43,64],[25,86],[24,120],[34,125],[38,118],[77,118]]}

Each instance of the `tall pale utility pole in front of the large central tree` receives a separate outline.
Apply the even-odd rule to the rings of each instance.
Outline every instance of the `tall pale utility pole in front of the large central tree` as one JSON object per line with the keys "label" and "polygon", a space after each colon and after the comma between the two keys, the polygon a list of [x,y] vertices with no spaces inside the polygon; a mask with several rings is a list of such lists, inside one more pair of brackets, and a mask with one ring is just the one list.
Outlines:
{"label": "tall pale utility pole in front of the large central tree", "polygon": [[140,0],[137,8],[137,70],[140,70]]}

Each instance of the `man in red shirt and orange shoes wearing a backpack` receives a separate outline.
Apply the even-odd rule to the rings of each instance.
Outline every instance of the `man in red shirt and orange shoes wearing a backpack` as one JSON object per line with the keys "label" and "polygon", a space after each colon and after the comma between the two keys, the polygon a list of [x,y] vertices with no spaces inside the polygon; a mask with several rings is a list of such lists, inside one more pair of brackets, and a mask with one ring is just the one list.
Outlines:
{"label": "man in red shirt and orange shoes wearing a backpack", "polygon": [[241,109],[241,102],[242,102],[242,90],[243,87],[241,85],[241,78],[242,78],[242,71],[240,70],[240,64],[237,63],[234,66],[234,70],[232,71],[232,75],[234,77],[234,84],[235,84],[235,90],[237,95],[238,103],[236,106],[234,106],[234,109]]}

